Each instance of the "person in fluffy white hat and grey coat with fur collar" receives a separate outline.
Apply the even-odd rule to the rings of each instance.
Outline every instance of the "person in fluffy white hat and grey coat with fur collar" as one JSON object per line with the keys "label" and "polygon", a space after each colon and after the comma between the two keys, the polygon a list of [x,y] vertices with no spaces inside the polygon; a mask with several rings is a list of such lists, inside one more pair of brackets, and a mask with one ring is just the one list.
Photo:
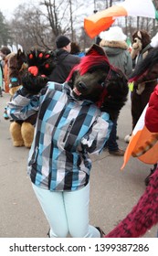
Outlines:
{"label": "person in fluffy white hat and grey coat with fur collar", "polygon": [[[105,50],[111,65],[121,69],[128,78],[132,73],[132,57],[125,42],[126,36],[123,34],[121,27],[111,27],[109,31],[102,32],[100,37],[102,38],[100,46]],[[103,109],[103,111],[106,111],[106,109]],[[117,143],[118,117],[119,112],[112,120],[112,131],[106,147],[108,147],[111,155],[122,156],[124,155],[124,150],[120,149]]]}

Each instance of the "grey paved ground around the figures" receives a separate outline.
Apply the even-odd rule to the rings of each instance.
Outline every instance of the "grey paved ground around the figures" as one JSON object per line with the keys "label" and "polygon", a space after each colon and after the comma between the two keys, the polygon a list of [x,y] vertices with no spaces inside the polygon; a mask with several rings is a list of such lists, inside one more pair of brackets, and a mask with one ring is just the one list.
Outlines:
{"label": "grey paved ground around the figures", "polygon": [[[26,175],[28,149],[12,145],[9,121],[3,118],[9,95],[0,98],[0,238],[47,237],[47,220],[38,205],[29,177]],[[118,124],[119,144],[126,148],[123,138],[131,132],[130,101],[123,107]],[[93,156],[90,178],[90,223],[107,233],[124,218],[142,195],[144,178],[151,165],[131,158],[120,171],[122,157],[104,151]],[[157,228],[144,237],[154,238]]]}

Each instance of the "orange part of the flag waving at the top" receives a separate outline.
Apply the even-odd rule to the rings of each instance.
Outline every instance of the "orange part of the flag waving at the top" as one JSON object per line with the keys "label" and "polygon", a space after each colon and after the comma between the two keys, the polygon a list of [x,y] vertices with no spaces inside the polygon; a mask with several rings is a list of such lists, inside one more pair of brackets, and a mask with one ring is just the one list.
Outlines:
{"label": "orange part of the flag waving at the top", "polygon": [[127,16],[127,11],[122,6],[111,6],[110,8],[100,11],[95,15],[84,19],[84,28],[89,37],[93,38],[111,27],[116,16]]}

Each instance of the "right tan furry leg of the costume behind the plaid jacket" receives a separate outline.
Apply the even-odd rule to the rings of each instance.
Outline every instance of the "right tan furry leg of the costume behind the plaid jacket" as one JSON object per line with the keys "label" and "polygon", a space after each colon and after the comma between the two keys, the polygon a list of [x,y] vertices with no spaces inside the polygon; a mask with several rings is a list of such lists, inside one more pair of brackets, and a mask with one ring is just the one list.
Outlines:
{"label": "right tan furry leg of the costume behind the plaid jacket", "polygon": [[21,134],[25,146],[30,148],[34,138],[34,126],[31,123],[22,123]]}

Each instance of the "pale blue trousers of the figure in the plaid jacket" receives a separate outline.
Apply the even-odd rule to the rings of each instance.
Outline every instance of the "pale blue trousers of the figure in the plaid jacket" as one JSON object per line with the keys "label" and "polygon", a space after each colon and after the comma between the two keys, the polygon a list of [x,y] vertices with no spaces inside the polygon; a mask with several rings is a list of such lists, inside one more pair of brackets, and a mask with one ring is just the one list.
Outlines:
{"label": "pale blue trousers of the figure in the plaid jacket", "polygon": [[33,184],[37,199],[50,226],[51,238],[100,238],[89,225],[90,184],[76,191],[49,191]]}

